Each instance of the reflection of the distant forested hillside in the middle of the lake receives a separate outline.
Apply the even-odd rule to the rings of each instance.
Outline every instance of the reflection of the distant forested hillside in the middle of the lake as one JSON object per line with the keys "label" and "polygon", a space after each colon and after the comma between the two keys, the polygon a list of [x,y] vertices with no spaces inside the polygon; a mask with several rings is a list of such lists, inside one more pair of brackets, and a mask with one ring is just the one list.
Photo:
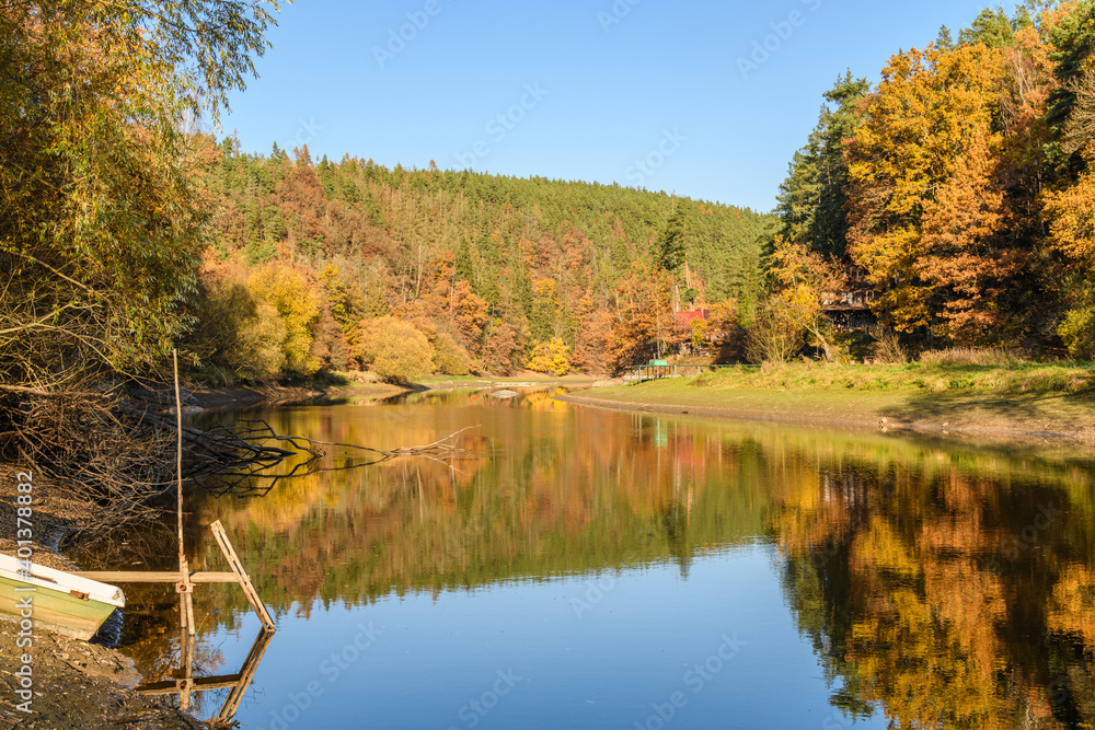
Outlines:
{"label": "reflection of the distant forested hillside in the middle of the lake", "polygon": [[[687,569],[694,552],[763,531],[762,486],[726,478],[740,454],[721,428],[574,409],[552,395],[498,401],[465,392],[275,414],[280,432],[381,449],[477,428],[460,436],[465,453],[453,460],[314,474],[262,499],[210,499],[199,520],[219,518],[247,561],[263,566],[255,583],[272,609],[306,613],[316,602],[356,604],[624,561]],[[216,546],[205,551],[204,567],[214,567]],[[212,592],[244,610],[230,589]]]}

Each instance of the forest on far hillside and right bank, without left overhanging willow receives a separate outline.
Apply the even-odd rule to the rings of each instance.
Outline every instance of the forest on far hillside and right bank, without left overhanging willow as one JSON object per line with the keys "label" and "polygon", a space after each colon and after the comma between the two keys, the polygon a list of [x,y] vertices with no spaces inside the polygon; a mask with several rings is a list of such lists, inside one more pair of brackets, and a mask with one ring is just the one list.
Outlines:
{"label": "forest on far hillside and right bank, without left overhanging willow", "polygon": [[[825,303],[860,270],[876,338],[1088,358],[1093,19],[1090,2],[986,10],[876,86],[844,73],[773,216],[194,138],[216,211],[198,300],[216,326],[195,356],[251,378],[420,376],[430,355],[450,374],[839,360]],[[392,355],[407,344],[417,371]]]}

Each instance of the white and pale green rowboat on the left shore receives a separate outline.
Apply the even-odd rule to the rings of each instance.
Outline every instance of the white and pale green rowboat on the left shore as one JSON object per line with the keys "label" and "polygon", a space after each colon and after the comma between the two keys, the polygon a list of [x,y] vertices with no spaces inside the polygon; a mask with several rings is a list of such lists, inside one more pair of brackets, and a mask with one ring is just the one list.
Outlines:
{"label": "white and pale green rowboat on the left shore", "polygon": [[115,609],[126,605],[117,586],[35,564],[27,576],[21,566],[25,564],[0,555],[0,618],[18,622],[30,614],[31,630],[41,628],[87,641]]}

